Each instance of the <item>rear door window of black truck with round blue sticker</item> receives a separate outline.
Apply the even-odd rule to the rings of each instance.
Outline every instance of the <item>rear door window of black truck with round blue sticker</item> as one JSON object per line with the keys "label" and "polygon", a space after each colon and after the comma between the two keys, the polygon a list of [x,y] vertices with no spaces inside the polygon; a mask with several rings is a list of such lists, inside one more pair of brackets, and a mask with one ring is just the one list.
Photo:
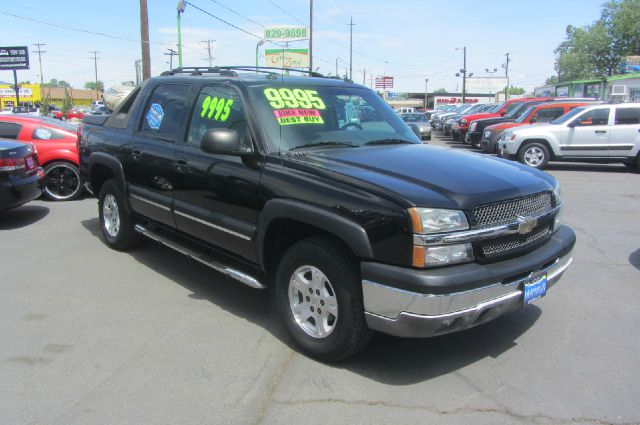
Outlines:
{"label": "rear door window of black truck with round blue sticker", "polygon": [[186,84],[156,87],[143,111],[140,131],[172,142],[181,140],[189,114],[190,89]]}

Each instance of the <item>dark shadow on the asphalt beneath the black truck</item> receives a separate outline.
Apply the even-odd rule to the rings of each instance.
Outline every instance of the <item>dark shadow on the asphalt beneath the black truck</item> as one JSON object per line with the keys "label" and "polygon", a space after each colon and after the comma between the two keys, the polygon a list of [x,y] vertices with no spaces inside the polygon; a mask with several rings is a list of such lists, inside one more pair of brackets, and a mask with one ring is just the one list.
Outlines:
{"label": "dark shadow on the asphalt beneath the black truck", "polygon": [[[82,221],[82,226],[103,243],[97,218]],[[254,323],[299,352],[277,317],[270,291],[239,284],[150,240],[143,240],[137,249],[122,255],[132,256],[141,265],[191,291],[190,298],[208,301]],[[516,346],[517,338],[540,315],[541,310],[532,305],[477,328],[436,338],[405,339],[376,334],[361,353],[327,366],[347,369],[389,385],[410,385],[455,372],[486,357],[499,357]]]}

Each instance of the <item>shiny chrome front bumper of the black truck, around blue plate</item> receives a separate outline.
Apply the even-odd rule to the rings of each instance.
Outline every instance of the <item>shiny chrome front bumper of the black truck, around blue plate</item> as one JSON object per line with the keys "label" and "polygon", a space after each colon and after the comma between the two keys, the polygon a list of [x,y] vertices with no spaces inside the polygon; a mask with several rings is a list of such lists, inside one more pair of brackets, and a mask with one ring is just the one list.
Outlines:
{"label": "shiny chrome front bumper of the black truck, around blue plate", "polygon": [[429,337],[456,332],[488,322],[523,305],[526,282],[547,275],[547,290],[572,262],[571,253],[551,265],[509,282],[442,295],[420,294],[362,281],[369,328],[401,337]]}

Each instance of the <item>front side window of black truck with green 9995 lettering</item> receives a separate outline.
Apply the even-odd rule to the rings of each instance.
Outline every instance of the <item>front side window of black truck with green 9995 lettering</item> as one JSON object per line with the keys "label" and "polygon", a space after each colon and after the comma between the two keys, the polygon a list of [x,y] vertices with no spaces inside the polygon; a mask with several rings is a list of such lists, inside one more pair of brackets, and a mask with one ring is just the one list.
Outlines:
{"label": "front side window of black truck with green 9995 lettering", "polygon": [[206,86],[202,89],[191,116],[187,143],[200,146],[202,136],[212,128],[236,130],[242,141],[247,136],[247,120],[242,100],[231,87]]}

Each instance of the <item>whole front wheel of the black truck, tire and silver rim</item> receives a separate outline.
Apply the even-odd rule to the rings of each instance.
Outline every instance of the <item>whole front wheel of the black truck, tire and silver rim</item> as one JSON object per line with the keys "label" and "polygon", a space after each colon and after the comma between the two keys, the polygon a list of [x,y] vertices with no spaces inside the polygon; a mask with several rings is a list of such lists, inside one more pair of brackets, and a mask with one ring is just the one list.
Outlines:
{"label": "whole front wheel of the black truck, tire and silver rim", "polygon": [[275,279],[278,313],[310,356],[341,360],[369,341],[358,264],[337,241],[297,242],[282,257]]}

